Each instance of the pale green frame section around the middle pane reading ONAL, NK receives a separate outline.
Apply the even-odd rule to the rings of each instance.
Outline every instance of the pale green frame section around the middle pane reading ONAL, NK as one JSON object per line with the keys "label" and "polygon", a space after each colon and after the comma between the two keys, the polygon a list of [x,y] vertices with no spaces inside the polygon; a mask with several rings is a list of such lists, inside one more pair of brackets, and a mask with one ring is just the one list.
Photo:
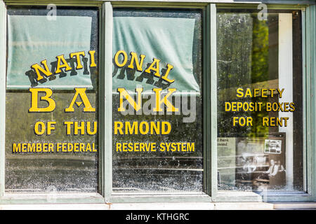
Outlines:
{"label": "pale green frame section around the middle pane reading ONAL, NK", "polygon": [[[211,29],[211,26],[216,25],[216,13],[211,13],[215,12],[216,7],[215,4],[206,4],[206,3],[163,3],[163,4],[157,4],[157,3],[143,3],[143,2],[117,2],[113,1],[112,4],[109,4],[108,6],[108,11],[110,15],[113,15],[112,11],[114,8],[194,8],[194,9],[202,9],[202,55],[203,55],[203,73],[202,73],[202,79],[204,80],[203,82],[203,168],[204,168],[204,173],[203,173],[203,188],[204,191],[202,193],[177,193],[177,194],[171,194],[171,193],[162,193],[162,194],[150,194],[150,193],[140,193],[138,195],[128,195],[126,193],[112,193],[112,175],[108,177],[105,176],[105,179],[107,179],[107,191],[105,198],[109,202],[211,202],[211,177],[209,174],[213,172],[211,169],[212,167],[210,166],[210,160],[211,160],[211,153],[207,151],[207,148],[210,148],[211,146],[211,141],[209,138],[206,138],[207,134],[211,133],[211,119],[209,115],[207,115],[210,112],[211,108],[211,102],[209,102],[207,99],[211,99],[211,78],[209,77],[208,74],[211,73],[211,66],[210,61],[211,61],[211,38],[213,38],[213,41],[216,41],[216,36],[209,36],[209,31]],[[213,15],[213,18],[212,16]],[[111,18],[112,20],[112,18]],[[107,20],[105,20],[107,21]],[[110,25],[109,25],[110,26]],[[111,24],[112,28],[112,24]],[[112,29],[111,29],[112,30]],[[108,38],[111,38],[110,43],[112,43],[112,33],[108,34]],[[107,38],[107,37],[106,37]],[[110,59],[110,61],[107,62],[107,64],[111,64],[111,70],[110,70],[110,75],[108,78],[112,80],[112,48],[111,51],[108,49],[105,52],[111,52],[111,55],[109,55],[107,58]],[[215,51],[216,52],[216,51]],[[214,61],[213,63],[216,63]],[[106,62],[105,62],[106,64]],[[109,74],[108,73],[108,74]],[[212,83],[216,87],[216,82]],[[109,91],[108,99],[112,97],[112,83],[105,86]],[[112,100],[112,98],[111,98]],[[213,100],[213,99],[212,99]],[[110,102],[110,101],[109,101]],[[215,102],[216,103],[216,102]],[[215,106],[213,106],[213,109],[215,109]],[[111,114],[111,119],[112,119],[112,108],[108,109],[108,112]],[[216,120],[215,120],[216,122]],[[112,127],[112,123],[111,126]],[[216,125],[214,124],[214,127]],[[215,136],[213,137],[215,138]],[[107,169],[111,170],[112,173],[112,129],[111,132],[109,133],[108,139],[110,139],[111,146],[105,148],[105,151],[108,151],[108,154],[111,156],[107,156],[107,161],[105,162],[107,164]],[[216,140],[216,139],[215,139]],[[216,143],[213,139],[213,143]],[[211,175],[213,176],[213,175]],[[111,179],[111,180],[110,180]],[[111,183],[110,183],[111,181]]]}

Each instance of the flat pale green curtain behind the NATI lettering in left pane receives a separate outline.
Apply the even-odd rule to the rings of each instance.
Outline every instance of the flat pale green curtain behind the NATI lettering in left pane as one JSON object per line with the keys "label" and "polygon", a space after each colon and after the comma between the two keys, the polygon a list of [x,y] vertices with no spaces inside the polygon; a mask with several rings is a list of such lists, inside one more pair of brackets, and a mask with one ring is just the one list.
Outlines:
{"label": "flat pale green curtain behind the NATI lettering in left pane", "polygon": [[[91,44],[91,17],[57,16],[48,20],[43,15],[8,15],[8,72],[7,89],[28,89],[29,77],[25,74],[32,64],[40,64],[47,59],[48,68],[56,62],[56,56],[70,58],[71,52],[85,51],[90,64],[88,50]],[[75,64],[77,66],[77,64]],[[53,71],[52,71],[53,72]],[[76,76],[38,83],[37,87],[53,89],[92,88],[91,76],[78,69]]]}

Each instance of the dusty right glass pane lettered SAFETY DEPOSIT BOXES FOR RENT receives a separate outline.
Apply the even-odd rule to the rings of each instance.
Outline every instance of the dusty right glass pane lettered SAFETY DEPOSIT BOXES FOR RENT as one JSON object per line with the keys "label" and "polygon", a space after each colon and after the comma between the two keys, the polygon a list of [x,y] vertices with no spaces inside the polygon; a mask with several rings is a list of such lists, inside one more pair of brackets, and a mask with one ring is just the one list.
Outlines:
{"label": "dusty right glass pane lettered SAFETY DEPOSIT BOXES FOR RENT", "polygon": [[304,190],[301,63],[300,11],[218,11],[219,190]]}

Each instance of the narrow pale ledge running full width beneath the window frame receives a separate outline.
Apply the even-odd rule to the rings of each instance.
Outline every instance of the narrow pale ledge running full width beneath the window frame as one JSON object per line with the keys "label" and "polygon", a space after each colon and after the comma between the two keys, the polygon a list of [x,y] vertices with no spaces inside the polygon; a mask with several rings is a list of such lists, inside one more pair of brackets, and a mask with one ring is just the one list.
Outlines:
{"label": "narrow pale ledge running full width beneath the window frame", "polygon": [[114,204],[0,204],[0,210],[272,210],[316,209],[316,202],[190,202]]}

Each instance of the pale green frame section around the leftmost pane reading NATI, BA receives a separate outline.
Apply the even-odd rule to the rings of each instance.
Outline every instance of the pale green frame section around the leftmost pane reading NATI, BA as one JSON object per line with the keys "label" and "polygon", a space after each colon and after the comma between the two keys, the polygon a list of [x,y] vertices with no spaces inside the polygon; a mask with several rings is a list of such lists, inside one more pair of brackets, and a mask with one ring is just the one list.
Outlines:
{"label": "pale green frame section around the leftmost pane reading NATI, BA", "polygon": [[[98,2],[98,1],[81,1],[80,3],[58,3],[58,1],[41,1],[41,2],[36,2],[32,1],[31,3],[29,2],[4,2],[0,1],[0,20],[1,20],[1,25],[0,25],[0,30],[4,31],[4,36],[0,37],[0,49],[4,49],[1,52],[4,53],[4,57],[1,55],[0,56],[0,64],[4,63],[4,68],[0,72],[0,79],[2,80],[1,85],[0,85],[0,94],[1,94],[1,101],[0,105],[1,107],[1,128],[0,128],[0,148],[5,148],[5,133],[6,133],[6,48],[7,48],[7,38],[6,38],[6,26],[7,26],[7,11],[6,11],[6,6],[47,6],[49,3],[55,3],[56,6],[74,6],[74,7],[82,7],[82,6],[93,6],[97,7],[99,11],[99,18],[98,21],[101,22],[102,16],[101,10],[103,3]],[[100,24],[100,23],[99,23]],[[99,38],[99,44],[100,44],[100,30],[98,34]],[[99,45],[99,51],[100,51],[100,45]],[[100,55],[99,55],[99,62],[100,62]],[[100,64],[100,63],[99,63]],[[1,66],[2,67],[2,66]],[[100,73],[100,66],[98,67],[99,73]],[[98,84],[98,87],[100,88],[100,81]],[[101,89],[101,88],[100,88]],[[100,100],[99,100],[100,104]],[[98,116],[100,116],[100,110],[98,111]],[[100,127],[98,127],[100,130]],[[99,134],[99,139],[100,139],[100,134]],[[99,150],[100,153],[100,150]],[[99,168],[98,168],[98,181],[99,181],[99,192],[101,193],[60,193],[56,195],[51,195],[51,194],[45,194],[45,193],[35,193],[35,194],[29,194],[29,193],[20,193],[20,194],[12,194],[12,193],[5,193],[5,151],[1,150],[0,151],[0,203],[1,204],[51,204],[51,203],[104,203],[104,197],[102,195],[101,191],[101,186],[100,186],[100,181],[102,181],[102,176],[100,175],[101,169],[100,169],[100,154],[99,154]]]}

